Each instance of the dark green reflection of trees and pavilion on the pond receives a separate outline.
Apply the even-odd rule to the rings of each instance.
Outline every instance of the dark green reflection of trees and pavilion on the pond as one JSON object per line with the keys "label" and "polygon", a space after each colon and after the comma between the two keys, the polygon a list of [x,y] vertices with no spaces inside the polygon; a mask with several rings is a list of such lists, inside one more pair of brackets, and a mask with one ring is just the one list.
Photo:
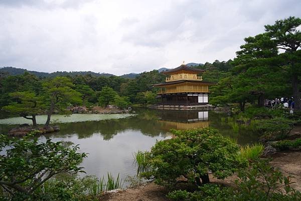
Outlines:
{"label": "dark green reflection of trees and pavilion on the pond", "polygon": [[[235,133],[231,126],[221,121],[227,117],[224,113],[209,111],[208,116],[200,111],[166,111],[166,110],[136,110],[138,115],[124,119],[110,119],[102,121],[85,121],[59,124],[61,131],[55,134],[57,137],[69,137],[77,135],[78,138],[88,138],[93,134],[99,134],[104,140],[112,139],[118,133],[128,129],[138,130],[143,135],[159,136],[169,135],[170,129],[191,129],[213,127],[220,130],[225,136],[236,138],[238,143],[246,144],[257,139],[258,134],[250,129],[240,129]],[[203,119],[202,119],[203,118]],[[0,125],[0,131],[7,133],[14,125]]]}

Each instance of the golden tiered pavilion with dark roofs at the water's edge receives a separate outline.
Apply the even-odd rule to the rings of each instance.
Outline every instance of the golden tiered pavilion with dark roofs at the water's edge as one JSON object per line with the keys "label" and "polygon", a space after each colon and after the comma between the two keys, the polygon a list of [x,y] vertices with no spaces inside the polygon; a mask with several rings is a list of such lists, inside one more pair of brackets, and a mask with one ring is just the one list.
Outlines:
{"label": "golden tiered pavilion with dark roofs at the water's edge", "polygon": [[182,64],[178,68],[162,72],[168,75],[165,82],[155,84],[157,105],[207,105],[208,87],[214,83],[205,82],[200,74],[205,70]]}

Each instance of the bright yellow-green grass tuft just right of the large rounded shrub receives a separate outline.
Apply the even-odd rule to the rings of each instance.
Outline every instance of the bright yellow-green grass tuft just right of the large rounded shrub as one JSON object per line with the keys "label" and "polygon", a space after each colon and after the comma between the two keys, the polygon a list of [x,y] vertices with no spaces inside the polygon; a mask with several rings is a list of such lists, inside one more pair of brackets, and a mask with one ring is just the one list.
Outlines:
{"label": "bright yellow-green grass tuft just right of the large rounded shrub", "polygon": [[260,157],[264,146],[261,143],[255,143],[252,146],[246,145],[240,147],[238,156],[247,160],[256,160]]}

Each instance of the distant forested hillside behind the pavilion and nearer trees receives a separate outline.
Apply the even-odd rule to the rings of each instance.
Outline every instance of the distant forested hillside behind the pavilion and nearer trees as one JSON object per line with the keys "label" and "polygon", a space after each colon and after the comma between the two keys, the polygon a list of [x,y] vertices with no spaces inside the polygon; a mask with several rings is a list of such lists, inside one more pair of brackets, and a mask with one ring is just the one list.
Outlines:
{"label": "distant forested hillside behind the pavilion and nearer trees", "polygon": [[[207,62],[204,65],[194,67],[207,70],[202,75],[204,80],[218,82],[219,79],[229,74],[228,71],[232,68],[230,62],[216,60],[212,64]],[[12,67],[5,69],[9,69],[10,74],[2,72],[0,76],[1,107],[18,100],[11,95],[14,92],[31,91],[37,95],[43,94],[43,83],[50,82],[54,77],[66,77],[70,80],[72,89],[81,94],[81,99],[87,106],[99,103],[98,98],[104,87],[111,88],[120,97],[127,97],[131,103],[153,104],[156,100],[156,89],[152,85],[163,82],[166,78],[166,75],[159,73],[158,70],[140,74],[127,74],[126,76],[114,76],[93,72],[56,72],[49,74]]]}

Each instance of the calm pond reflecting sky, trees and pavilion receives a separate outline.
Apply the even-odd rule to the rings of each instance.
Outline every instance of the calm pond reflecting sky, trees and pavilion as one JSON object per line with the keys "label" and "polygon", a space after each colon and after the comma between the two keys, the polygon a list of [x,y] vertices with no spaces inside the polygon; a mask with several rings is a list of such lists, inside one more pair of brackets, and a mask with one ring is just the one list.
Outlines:
{"label": "calm pond reflecting sky, trees and pavilion", "polygon": [[[68,145],[79,144],[80,151],[89,153],[82,164],[87,174],[102,177],[107,172],[115,176],[119,173],[124,180],[127,176],[136,175],[133,153],[149,150],[156,140],[170,138],[170,129],[209,126],[219,129],[225,136],[236,138],[239,144],[252,143],[258,138],[251,130],[234,132],[231,125],[225,123],[224,119],[228,117],[224,113],[150,109],[138,109],[136,112],[136,115],[54,115],[60,132],[43,135],[40,139],[64,141]],[[44,123],[46,116],[38,116],[37,121]],[[0,132],[6,133],[16,127],[14,124],[21,123],[28,121],[24,118],[1,119]]]}

